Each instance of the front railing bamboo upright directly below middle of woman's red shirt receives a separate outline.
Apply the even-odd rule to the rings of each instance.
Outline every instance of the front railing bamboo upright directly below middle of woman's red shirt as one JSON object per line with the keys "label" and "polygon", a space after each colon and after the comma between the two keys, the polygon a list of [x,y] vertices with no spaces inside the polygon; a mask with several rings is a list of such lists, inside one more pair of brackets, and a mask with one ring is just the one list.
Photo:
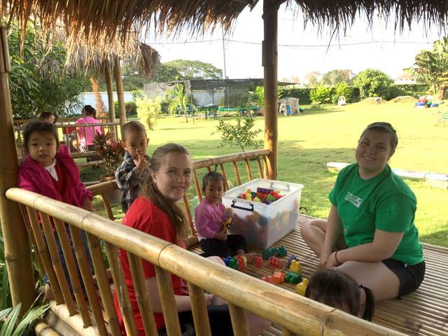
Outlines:
{"label": "front railing bamboo upright directly below middle of woman's red shirt", "polygon": [[162,303],[163,318],[165,328],[170,336],[181,336],[181,326],[179,325],[179,316],[177,314],[176,300],[174,299],[173,283],[171,274],[165,269],[154,265],[155,276],[159,288],[160,301]]}

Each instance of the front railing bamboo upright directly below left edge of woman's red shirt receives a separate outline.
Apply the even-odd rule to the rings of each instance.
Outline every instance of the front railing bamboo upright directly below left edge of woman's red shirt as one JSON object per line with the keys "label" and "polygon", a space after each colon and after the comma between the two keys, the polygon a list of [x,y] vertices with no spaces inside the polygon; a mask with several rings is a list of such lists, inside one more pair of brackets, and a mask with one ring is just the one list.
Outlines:
{"label": "front railing bamboo upright directly below left edge of woman's red shirt", "polygon": [[153,308],[149,301],[148,290],[146,290],[145,274],[143,265],[141,265],[141,259],[132,253],[127,253],[127,260],[129,261],[132,281],[134,281],[135,296],[137,304],[139,304],[141,321],[143,322],[146,335],[158,335]]}

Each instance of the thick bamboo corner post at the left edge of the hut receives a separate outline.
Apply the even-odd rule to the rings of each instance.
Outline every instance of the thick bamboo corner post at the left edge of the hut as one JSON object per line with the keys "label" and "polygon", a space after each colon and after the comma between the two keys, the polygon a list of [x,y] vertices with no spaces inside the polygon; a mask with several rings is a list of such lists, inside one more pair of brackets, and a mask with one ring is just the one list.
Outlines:
{"label": "thick bamboo corner post at the left edge of the hut", "polygon": [[34,302],[36,293],[27,229],[17,204],[5,197],[8,188],[17,186],[19,171],[8,85],[9,72],[7,31],[5,27],[0,27],[0,222],[13,306],[22,302],[20,314],[24,314]]}

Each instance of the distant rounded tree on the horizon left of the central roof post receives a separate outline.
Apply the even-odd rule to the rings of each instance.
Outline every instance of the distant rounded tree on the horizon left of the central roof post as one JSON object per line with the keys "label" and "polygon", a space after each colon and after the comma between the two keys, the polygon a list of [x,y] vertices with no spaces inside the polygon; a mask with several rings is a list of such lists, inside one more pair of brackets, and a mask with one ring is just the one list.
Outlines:
{"label": "distant rounded tree on the horizon left of the central roof post", "polygon": [[158,82],[185,79],[219,79],[221,69],[213,64],[188,59],[176,59],[162,63],[157,71]]}

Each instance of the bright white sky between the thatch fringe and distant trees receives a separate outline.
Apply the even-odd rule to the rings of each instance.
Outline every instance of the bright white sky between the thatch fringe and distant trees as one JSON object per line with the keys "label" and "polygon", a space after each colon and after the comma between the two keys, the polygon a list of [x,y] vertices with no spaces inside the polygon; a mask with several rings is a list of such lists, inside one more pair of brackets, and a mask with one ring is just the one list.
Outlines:
{"label": "bright white sky between the thatch fringe and distant trees", "polygon": [[[225,64],[228,78],[262,78],[261,42],[263,39],[262,1],[250,11],[244,10],[232,31],[224,35]],[[325,73],[332,69],[350,69],[358,73],[363,69],[379,69],[396,78],[403,69],[414,64],[414,57],[422,49],[430,50],[440,31],[426,31],[414,22],[409,29],[394,31],[393,22],[374,20],[368,27],[356,20],[345,34],[332,36],[332,31],[318,32],[316,27],[304,23],[295,8],[279,9],[278,78],[299,78],[311,71]],[[174,59],[191,59],[208,62],[223,69],[223,40],[221,29],[191,37],[188,31],[178,36],[150,35],[146,43],[158,50],[162,62]],[[328,48],[328,45],[330,47]]]}

